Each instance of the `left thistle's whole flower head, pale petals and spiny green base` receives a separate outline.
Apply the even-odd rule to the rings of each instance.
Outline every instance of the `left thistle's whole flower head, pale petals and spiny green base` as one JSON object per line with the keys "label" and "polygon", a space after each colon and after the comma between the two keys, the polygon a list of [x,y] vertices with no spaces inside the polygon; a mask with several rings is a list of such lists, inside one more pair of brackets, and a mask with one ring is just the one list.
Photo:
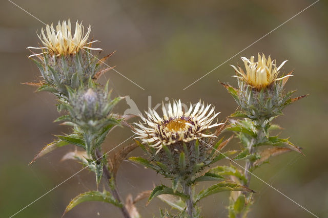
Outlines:
{"label": "left thistle's whole flower head, pale petals and spiny green base", "polygon": [[47,25],[38,35],[45,47],[28,47],[28,49],[42,49],[42,53],[29,57],[37,65],[44,81],[40,81],[39,91],[45,90],[54,94],[68,95],[66,86],[76,90],[81,83],[88,84],[89,78],[96,80],[99,76],[111,69],[103,69],[104,61],[111,55],[99,60],[91,48],[95,41],[89,41],[91,26],[85,33],[85,28],[76,21],[75,32],[72,33],[71,21],[58,22],[56,30],[53,25]]}

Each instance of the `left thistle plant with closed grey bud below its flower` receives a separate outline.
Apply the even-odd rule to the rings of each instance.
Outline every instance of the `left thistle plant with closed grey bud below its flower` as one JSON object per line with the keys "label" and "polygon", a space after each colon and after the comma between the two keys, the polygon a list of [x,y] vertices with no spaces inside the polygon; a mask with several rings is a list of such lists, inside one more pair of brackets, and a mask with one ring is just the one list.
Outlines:
{"label": "left thistle plant with closed grey bud below its flower", "polygon": [[[65,155],[63,160],[74,159],[93,171],[97,190],[79,194],[69,203],[65,213],[81,202],[103,201],[119,207],[124,217],[138,217],[134,204],[122,201],[115,181],[121,161],[137,146],[131,144],[112,158],[102,151],[101,145],[109,132],[127,122],[126,117],[113,113],[114,106],[122,97],[111,99],[108,82],[105,86],[97,82],[99,76],[110,69],[100,68],[110,55],[99,60],[91,54],[92,50],[101,49],[91,48],[91,44],[96,41],[88,41],[90,31],[91,26],[84,34],[84,27],[76,22],[73,35],[70,20],[68,23],[58,23],[56,30],[53,25],[47,25],[46,34],[42,29],[38,35],[44,47],[28,47],[42,49],[42,53],[30,57],[37,59],[31,58],[44,80],[27,84],[38,86],[37,91],[48,91],[57,96],[58,112],[64,115],[56,121],[72,127],[71,134],[57,135],[57,139],[43,148],[32,162],[58,147],[68,144],[79,147],[79,150]],[[108,188],[99,191],[98,185],[103,177]]]}

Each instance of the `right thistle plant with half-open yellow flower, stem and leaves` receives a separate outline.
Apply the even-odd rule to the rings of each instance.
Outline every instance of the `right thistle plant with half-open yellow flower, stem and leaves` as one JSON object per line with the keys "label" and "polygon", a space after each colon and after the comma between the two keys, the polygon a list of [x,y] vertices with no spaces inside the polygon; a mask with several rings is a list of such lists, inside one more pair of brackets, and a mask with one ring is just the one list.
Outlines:
{"label": "right thistle plant with half-open yellow flower, stem and leaves", "polygon": [[[250,59],[245,57],[241,59],[244,62],[245,72],[240,66],[238,68],[232,66],[236,72],[238,88],[221,84],[239,105],[239,110],[231,117],[243,118],[231,120],[226,128],[233,131],[242,144],[242,150],[234,160],[245,161],[243,177],[233,179],[249,187],[252,171],[267,163],[270,157],[291,150],[303,154],[301,148],[292,144],[289,139],[279,138],[271,132],[280,128],[272,124],[272,120],[282,115],[283,108],[305,96],[292,98],[294,91],[285,92],[284,85],[292,76],[292,72],[279,78],[278,74],[286,61],[277,67],[276,60],[272,61],[270,56],[267,59],[264,54],[262,56],[258,54],[257,62],[254,61],[253,56]],[[229,216],[246,217],[251,204],[252,194],[246,192],[232,194]]]}

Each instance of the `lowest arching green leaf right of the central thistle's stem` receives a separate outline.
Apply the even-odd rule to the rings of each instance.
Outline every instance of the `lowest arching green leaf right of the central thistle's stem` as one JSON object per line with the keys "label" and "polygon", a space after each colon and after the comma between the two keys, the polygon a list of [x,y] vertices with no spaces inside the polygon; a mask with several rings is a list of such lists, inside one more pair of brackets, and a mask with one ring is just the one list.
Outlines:
{"label": "lowest arching green leaf right of the central thistle's stem", "polygon": [[203,198],[206,198],[211,194],[219,193],[219,192],[222,192],[222,191],[254,192],[253,190],[251,190],[251,189],[249,189],[245,186],[242,186],[242,185],[239,185],[239,184],[236,184],[236,183],[233,183],[233,182],[223,181],[223,182],[217,183],[215,185],[212,185],[211,187],[209,187],[207,189],[203,189],[202,191],[200,191],[195,197],[195,199],[196,199],[195,202],[198,202],[199,200],[201,200]]}

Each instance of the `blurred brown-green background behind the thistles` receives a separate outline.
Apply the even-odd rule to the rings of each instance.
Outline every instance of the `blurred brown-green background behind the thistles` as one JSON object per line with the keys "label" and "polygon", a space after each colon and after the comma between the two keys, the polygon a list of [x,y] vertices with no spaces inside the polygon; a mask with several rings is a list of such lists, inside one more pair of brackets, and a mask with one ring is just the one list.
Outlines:
{"label": "blurred brown-green background behind the thistles", "polygon": [[[101,81],[111,79],[115,95],[129,95],[140,111],[165,97],[213,103],[220,119],[234,112],[236,103],[217,80],[236,85],[229,64],[242,63],[240,56],[258,52],[271,54],[278,63],[288,59],[283,72],[294,70],[285,86],[308,97],[284,110],[275,120],[283,126],[283,137],[303,147],[305,157],[291,152],[273,158],[255,171],[300,205],[319,217],[328,217],[328,3],[320,1],[293,18],[236,57],[224,63],[185,91],[189,84],[270,32],[314,1],[39,1],[16,0],[20,7],[45,23],[70,18],[91,24],[91,35],[100,40],[100,56],[117,50],[109,64],[146,90],[109,71]],[[34,88],[19,82],[37,81],[37,67],[27,58],[25,48],[37,46],[36,30],[43,26],[8,1],[0,7],[0,217],[9,217],[80,169],[73,161],[60,162],[67,146],[53,151],[32,165],[33,156],[54,139],[52,134],[67,133],[53,123],[58,116],[55,97],[33,93]],[[116,108],[123,113],[129,106],[122,101]],[[136,120],[136,119],[135,119]],[[106,150],[130,137],[127,128],[116,129],[106,140]],[[125,143],[124,145],[127,145]],[[121,146],[124,146],[121,145]],[[238,147],[237,140],[230,144]],[[136,149],[132,155],[141,155]],[[221,162],[220,164],[226,164]],[[121,195],[167,183],[150,169],[125,161],[117,178]],[[204,184],[208,185],[208,184]],[[201,188],[203,184],[200,185]],[[80,192],[95,189],[93,173],[78,173],[15,217],[60,217],[69,201]],[[277,191],[253,178],[256,203],[249,217],[312,217]],[[137,203],[142,217],[159,214],[166,204],[155,199],[147,207]],[[204,217],[227,217],[228,193],[215,194],[200,202]],[[169,207],[168,207],[169,208]],[[120,217],[112,205],[84,203],[65,217]]]}

